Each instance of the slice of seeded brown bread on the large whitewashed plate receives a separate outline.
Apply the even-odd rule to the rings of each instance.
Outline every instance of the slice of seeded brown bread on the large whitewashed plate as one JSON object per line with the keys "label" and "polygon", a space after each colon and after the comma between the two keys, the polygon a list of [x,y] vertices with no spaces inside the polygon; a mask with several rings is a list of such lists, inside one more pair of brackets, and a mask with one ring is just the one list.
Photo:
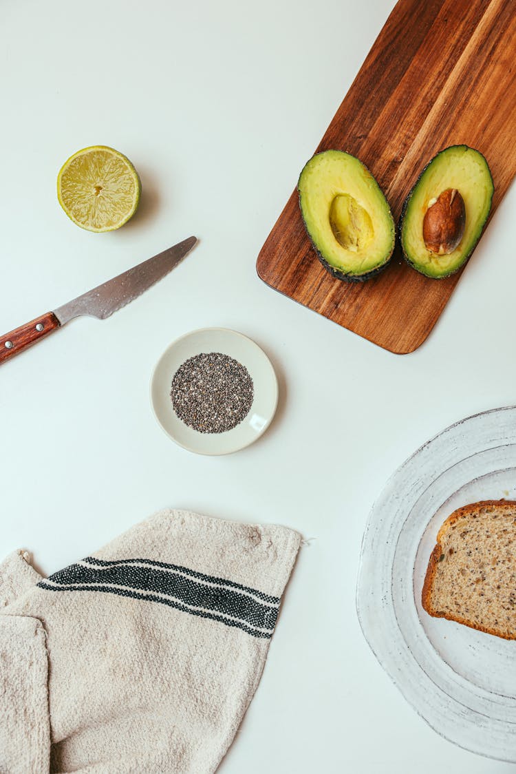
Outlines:
{"label": "slice of seeded brown bread on the large whitewashed plate", "polygon": [[437,618],[516,639],[516,502],[473,502],[446,519],[422,605]]}

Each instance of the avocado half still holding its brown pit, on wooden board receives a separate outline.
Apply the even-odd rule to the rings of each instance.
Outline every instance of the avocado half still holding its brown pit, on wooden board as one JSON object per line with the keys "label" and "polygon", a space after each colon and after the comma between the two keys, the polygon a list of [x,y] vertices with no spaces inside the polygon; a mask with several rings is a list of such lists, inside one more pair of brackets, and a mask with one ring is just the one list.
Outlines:
{"label": "avocado half still holding its brown pit, on wooden board", "polygon": [[[448,224],[450,249],[439,254],[429,249],[429,241],[425,242],[423,236],[423,226],[427,211],[434,204],[439,206],[441,199],[446,201],[447,192],[451,192],[452,197],[458,192],[462,197],[465,221],[456,234],[460,237],[457,244],[453,228],[459,227],[451,218]],[[460,269],[480,239],[493,193],[493,178],[480,151],[460,145],[449,146],[439,152],[425,166],[403,205],[399,232],[405,260],[432,279],[443,279]],[[449,211],[443,209],[443,219],[446,219],[446,212]],[[441,233],[446,235],[446,224]],[[446,238],[443,241],[446,242]]]}

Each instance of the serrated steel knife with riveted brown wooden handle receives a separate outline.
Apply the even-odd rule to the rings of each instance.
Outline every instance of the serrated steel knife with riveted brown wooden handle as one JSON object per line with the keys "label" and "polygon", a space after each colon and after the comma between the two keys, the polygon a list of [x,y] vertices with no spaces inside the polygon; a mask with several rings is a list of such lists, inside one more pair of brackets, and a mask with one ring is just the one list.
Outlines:
{"label": "serrated steel knife with riveted brown wooden handle", "polygon": [[31,320],[30,323],[12,330],[11,333],[0,336],[0,363],[36,344],[36,341],[66,325],[73,320],[73,317],[86,314],[105,320],[168,274],[186,253],[190,252],[196,241],[195,237],[189,237],[178,245],[160,252],[154,258],[133,266],[127,272],[109,279],[107,283],[65,303],[63,307],[53,312],[46,312],[41,317],[36,317],[36,320]]}

